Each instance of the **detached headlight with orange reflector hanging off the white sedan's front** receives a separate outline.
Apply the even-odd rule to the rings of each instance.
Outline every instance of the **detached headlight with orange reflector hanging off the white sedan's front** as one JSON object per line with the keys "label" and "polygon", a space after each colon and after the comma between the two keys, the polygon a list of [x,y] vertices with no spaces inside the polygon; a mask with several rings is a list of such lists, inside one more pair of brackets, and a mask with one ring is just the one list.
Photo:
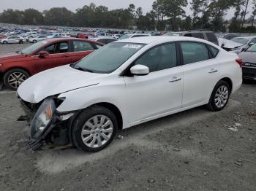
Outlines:
{"label": "detached headlight with orange reflector hanging off the white sedan's front", "polygon": [[53,119],[55,109],[56,106],[52,98],[47,98],[44,102],[42,102],[42,105],[37,110],[30,125],[31,139],[37,139],[39,136],[42,135],[46,128],[48,128],[48,125]]}

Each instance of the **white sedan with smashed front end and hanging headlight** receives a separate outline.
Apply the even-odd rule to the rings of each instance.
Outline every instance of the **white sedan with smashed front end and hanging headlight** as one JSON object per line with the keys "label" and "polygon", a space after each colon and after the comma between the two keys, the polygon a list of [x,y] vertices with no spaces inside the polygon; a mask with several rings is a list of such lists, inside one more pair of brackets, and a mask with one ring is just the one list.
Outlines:
{"label": "white sedan with smashed front end and hanging headlight", "polygon": [[206,105],[225,108],[241,87],[242,62],[203,39],[149,36],[105,45],[18,88],[31,119],[31,147],[72,143],[96,152],[118,129]]}

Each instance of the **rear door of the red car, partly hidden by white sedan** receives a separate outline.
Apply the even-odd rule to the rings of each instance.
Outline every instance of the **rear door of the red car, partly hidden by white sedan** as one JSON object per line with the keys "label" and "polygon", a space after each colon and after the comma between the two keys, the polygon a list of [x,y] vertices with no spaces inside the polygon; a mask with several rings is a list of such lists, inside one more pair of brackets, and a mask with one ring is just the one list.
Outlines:
{"label": "rear door of the red car, partly hidden by white sedan", "polygon": [[80,40],[72,41],[72,63],[80,61],[80,59],[84,58],[86,55],[89,55],[97,49],[91,42],[85,42]]}

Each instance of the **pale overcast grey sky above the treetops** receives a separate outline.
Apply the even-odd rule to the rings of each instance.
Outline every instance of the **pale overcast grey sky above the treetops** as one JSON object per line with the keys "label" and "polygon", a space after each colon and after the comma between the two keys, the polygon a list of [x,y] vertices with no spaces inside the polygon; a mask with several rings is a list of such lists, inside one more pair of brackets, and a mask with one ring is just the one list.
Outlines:
{"label": "pale overcast grey sky above the treetops", "polygon": [[[151,10],[154,1],[155,0],[0,0],[0,12],[10,8],[21,10],[34,8],[43,11],[51,7],[67,7],[67,9],[75,11],[75,9],[93,2],[97,6],[104,5],[109,9],[127,8],[129,4],[135,4],[135,7],[142,7],[143,13],[146,13]],[[184,10],[187,12],[187,15],[191,15],[192,12],[189,6],[185,7]],[[233,17],[233,12],[233,10],[228,11],[226,18],[230,19]]]}

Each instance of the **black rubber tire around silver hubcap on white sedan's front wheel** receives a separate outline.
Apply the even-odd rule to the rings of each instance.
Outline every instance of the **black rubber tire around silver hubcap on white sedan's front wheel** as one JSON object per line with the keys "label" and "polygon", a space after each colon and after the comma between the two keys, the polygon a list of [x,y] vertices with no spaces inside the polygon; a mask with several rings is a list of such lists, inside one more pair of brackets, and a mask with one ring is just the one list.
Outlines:
{"label": "black rubber tire around silver hubcap on white sedan's front wheel", "polygon": [[[108,117],[113,124],[113,132],[110,135],[110,139],[108,139],[108,141],[105,142],[105,144],[102,144],[101,147],[92,148],[92,147],[86,146],[86,144],[83,143],[81,133],[83,130],[83,126],[86,124],[86,122],[89,121],[91,119],[91,117],[94,117],[96,115],[104,115],[104,116]],[[73,141],[73,144],[75,145],[75,147],[77,147],[80,150],[83,150],[86,152],[98,152],[99,150],[102,150],[105,147],[107,147],[108,144],[110,144],[110,142],[113,141],[113,138],[116,135],[117,129],[118,129],[118,123],[116,120],[116,116],[115,116],[115,114],[113,114],[113,112],[111,112],[109,109],[105,108],[104,106],[97,106],[97,105],[91,106],[91,107],[83,110],[83,112],[81,112],[78,115],[78,117],[74,120],[74,122],[72,124],[72,130],[71,130],[72,141]],[[94,132],[94,136],[95,136],[95,132]],[[96,136],[97,136],[97,134],[96,134]],[[91,139],[93,139],[93,137],[91,137]],[[102,141],[104,141],[104,139]]]}

